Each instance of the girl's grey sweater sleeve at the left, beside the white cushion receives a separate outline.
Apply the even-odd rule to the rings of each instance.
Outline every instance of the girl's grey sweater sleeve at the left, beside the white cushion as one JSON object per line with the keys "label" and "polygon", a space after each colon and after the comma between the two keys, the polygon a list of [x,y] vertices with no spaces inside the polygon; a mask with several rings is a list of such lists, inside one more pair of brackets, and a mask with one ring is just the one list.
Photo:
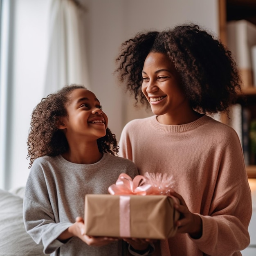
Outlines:
{"label": "girl's grey sweater sleeve at the left, beside the white cushion", "polygon": [[56,223],[43,171],[36,161],[31,167],[26,184],[23,218],[27,233],[36,243],[43,242],[45,254],[50,254],[63,245],[57,237],[72,225],[70,222]]}

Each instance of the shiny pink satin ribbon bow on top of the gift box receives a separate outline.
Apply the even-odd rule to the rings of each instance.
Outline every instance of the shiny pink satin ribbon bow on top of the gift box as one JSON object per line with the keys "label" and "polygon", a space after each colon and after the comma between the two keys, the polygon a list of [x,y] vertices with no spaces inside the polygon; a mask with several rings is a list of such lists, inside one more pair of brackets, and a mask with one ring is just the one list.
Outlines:
{"label": "shiny pink satin ribbon bow on top of the gift box", "polygon": [[108,192],[111,195],[147,195],[152,186],[145,182],[146,179],[142,175],[137,175],[132,180],[126,173],[121,173],[117,182],[108,187]]}

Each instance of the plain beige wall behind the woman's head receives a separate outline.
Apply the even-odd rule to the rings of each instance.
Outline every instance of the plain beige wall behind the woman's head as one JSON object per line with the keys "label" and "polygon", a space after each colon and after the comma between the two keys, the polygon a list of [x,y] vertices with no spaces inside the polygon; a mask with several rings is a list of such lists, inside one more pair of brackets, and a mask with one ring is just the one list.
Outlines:
{"label": "plain beige wall behind the woman's head", "polygon": [[[195,22],[218,34],[217,0],[85,0],[88,7],[92,88],[109,117],[109,128],[119,139],[128,121],[151,112],[133,108],[133,99],[124,97],[115,82],[118,47],[137,32]],[[102,96],[101,96],[102,95]]]}

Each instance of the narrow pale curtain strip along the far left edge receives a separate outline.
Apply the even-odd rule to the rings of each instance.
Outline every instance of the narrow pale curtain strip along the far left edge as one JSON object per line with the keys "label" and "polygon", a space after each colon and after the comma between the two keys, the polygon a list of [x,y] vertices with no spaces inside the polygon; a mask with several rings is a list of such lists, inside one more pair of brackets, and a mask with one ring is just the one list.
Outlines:
{"label": "narrow pale curtain strip along the far left edge", "polygon": [[9,185],[8,170],[11,118],[14,3],[0,0],[0,189]]}

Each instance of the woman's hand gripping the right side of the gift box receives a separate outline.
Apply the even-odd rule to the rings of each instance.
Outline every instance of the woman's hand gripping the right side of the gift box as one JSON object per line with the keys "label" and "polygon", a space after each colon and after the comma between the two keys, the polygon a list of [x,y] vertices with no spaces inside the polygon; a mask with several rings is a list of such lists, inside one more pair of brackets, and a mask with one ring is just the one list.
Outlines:
{"label": "woman's hand gripping the right side of the gift box", "polygon": [[180,200],[180,204],[174,204],[174,208],[180,212],[180,219],[175,223],[178,227],[177,233],[189,233],[189,235],[198,239],[202,236],[202,219],[197,214],[191,213],[182,196],[175,191],[171,195]]}

